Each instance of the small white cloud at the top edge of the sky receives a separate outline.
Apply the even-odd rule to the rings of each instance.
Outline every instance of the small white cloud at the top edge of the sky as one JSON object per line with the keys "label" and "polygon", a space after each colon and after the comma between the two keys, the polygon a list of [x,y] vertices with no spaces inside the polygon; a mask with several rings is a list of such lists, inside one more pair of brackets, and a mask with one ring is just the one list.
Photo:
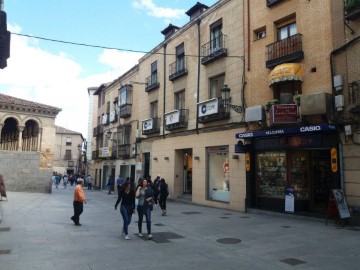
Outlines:
{"label": "small white cloud at the top edge of the sky", "polygon": [[185,9],[158,7],[152,0],[134,0],[132,5],[136,9],[147,10],[149,16],[164,18],[167,19],[167,21],[171,19],[181,19],[185,16],[186,11]]}

